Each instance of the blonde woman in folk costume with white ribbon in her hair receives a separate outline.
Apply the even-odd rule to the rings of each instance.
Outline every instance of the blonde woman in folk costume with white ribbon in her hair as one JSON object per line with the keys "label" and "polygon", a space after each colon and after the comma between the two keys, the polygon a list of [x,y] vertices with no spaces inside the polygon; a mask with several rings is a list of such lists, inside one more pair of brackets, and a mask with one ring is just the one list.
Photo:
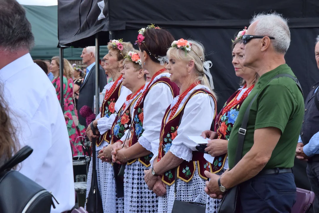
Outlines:
{"label": "blonde woman in folk costume with white ribbon in her hair", "polygon": [[[216,116],[216,95],[211,91],[209,72],[211,62],[204,60],[204,47],[196,41],[179,39],[172,43],[167,56],[166,68],[171,81],[180,87],[181,95],[174,98],[164,114],[158,154],[152,170],[145,171],[148,187],[161,195],[159,213],[172,212],[175,199],[206,203],[204,171],[210,163],[188,136],[198,136],[203,128],[209,129]],[[173,184],[176,184],[176,198]]]}

